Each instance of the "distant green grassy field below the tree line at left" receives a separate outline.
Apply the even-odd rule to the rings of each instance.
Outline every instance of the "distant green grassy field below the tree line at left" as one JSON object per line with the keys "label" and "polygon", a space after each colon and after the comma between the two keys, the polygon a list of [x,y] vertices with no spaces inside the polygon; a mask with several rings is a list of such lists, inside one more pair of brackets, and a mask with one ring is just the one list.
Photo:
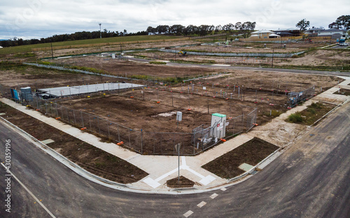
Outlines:
{"label": "distant green grassy field below the tree line at left", "polygon": [[[61,41],[52,43],[52,47],[58,46],[77,46],[77,45],[88,45],[88,44],[98,44],[98,43],[118,43],[118,42],[127,42],[127,41],[148,41],[148,40],[164,40],[164,39],[176,39],[179,36],[120,36],[120,37],[111,37],[105,39],[85,39],[85,40],[76,40],[76,41]],[[28,53],[31,52],[32,48],[47,48],[50,47],[50,43],[28,45],[28,46],[15,46],[0,48],[0,55],[8,55],[15,53]]]}

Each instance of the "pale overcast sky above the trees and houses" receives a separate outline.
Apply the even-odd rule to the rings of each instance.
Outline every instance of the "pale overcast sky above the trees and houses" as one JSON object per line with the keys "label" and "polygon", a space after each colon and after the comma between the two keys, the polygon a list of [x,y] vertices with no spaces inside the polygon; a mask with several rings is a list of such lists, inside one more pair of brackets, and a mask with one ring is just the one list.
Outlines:
{"label": "pale overcast sky above the trees and houses", "polygon": [[1,0],[0,39],[40,39],[99,30],[138,32],[158,25],[225,25],[256,22],[255,29],[328,27],[350,14],[350,1],[323,0]]}

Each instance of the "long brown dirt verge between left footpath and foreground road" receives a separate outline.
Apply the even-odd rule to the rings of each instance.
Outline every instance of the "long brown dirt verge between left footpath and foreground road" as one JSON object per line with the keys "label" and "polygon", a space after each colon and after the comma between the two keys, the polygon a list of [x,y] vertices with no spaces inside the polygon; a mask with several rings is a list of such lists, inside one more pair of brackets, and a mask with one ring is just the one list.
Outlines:
{"label": "long brown dirt verge between left footpath and foreground road", "polygon": [[80,139],[23,114],[6,104],[0,103],[0,112],[6,113],[2,116],[3,118],[25,130],[36,139],[41,141],[45,139],[54,140],[55,142],[48,144],[49,147],[95,175],[123,184],[137,182],[148,175],[127,161],[108,154],[91,144],[82,142]]}

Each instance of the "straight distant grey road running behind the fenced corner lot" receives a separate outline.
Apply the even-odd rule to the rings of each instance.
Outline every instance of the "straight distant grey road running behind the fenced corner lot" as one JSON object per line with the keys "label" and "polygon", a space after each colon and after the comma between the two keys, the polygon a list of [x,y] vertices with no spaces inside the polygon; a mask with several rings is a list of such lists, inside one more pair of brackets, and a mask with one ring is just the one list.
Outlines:
{"label": "straight distant grey road running behind the fenced corner lot", "polygon": [[[124,57],[128,60],[138,61],[138,62],[150,62],[151,60],[136,58],[136,57]],[[183,64],[176,62],[167,62],[168,66],[176,67],[204,67],[212,69],[239,69],[239,70],[251,70],[251,71],[271,71],[271,72],[286,72],[286,73],[297,73],[297,74],[319,74],[328,76],[350,76],[350,72],[344,71],[322,71],[322,70],[308,70],[308,69],[283,69],[283,68],[273,68],[273,67],[239,67],[239,66],[225,66],[223,65],[209,65],[209,64]]]}

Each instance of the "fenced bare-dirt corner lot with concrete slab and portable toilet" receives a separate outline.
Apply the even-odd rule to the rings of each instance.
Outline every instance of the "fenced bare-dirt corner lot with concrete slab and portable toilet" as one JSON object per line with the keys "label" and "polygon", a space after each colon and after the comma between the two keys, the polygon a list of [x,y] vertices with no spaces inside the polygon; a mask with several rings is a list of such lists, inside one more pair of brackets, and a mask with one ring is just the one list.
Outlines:
{"label": "fenced bare-dirt corner lot with concrete slab and portable toilet", "polygon": [[[53,79],[61,86],[48,88],[22,77],[17,85],[1,86],[1,93],[120,147],[153,155],[200,154],[339,82],[332,76],[231,71],[182,83],[89,76],[83,80],[89,83],[77,85],[80,77],[63,76]],[[22,87],[33,87],[30,96],[13,95]]]}

